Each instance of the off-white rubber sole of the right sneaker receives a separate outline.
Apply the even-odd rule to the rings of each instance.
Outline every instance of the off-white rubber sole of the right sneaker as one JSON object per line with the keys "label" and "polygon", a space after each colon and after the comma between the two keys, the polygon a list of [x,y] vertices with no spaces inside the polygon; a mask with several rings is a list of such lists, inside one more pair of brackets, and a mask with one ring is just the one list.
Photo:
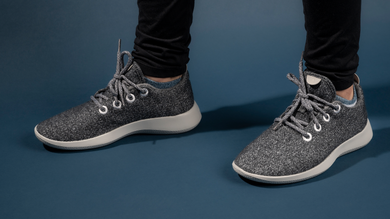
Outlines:
{"label": "off-white rubber sole of the right sneaker", "polygon": [[261,182],[261,183],[270,183],[270,184],[286,184],[286,183],[295,183],[303,180],[307,180],[313,178],[315,176],[320,175],[325,172],[336,160],[337,157],[343,156],[350,152],[356,151],[364,146],[366,146],[372,138],[372,128],[370,125],[370,121],[367,119],[367,125],[364,129],[359,132],[354,137],[342,143],[338,146],[326,159],[321,162],[316,167],[307,170],[302,173],[290,175],[290,176],[261,176],[257,174],[248,173],[238,167],[233,161],[233,169],[241,176],[248,178],[253,181]]}

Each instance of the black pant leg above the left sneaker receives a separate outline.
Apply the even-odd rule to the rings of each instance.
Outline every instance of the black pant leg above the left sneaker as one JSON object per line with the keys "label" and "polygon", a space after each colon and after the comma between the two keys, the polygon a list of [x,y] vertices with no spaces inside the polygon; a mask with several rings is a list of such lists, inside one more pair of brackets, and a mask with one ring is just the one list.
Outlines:
{"label": "black pant leg above the left sneaker", "polygon": [[195,0],[138,0],[131,55],[145,75],[174,77],[186,71]]}

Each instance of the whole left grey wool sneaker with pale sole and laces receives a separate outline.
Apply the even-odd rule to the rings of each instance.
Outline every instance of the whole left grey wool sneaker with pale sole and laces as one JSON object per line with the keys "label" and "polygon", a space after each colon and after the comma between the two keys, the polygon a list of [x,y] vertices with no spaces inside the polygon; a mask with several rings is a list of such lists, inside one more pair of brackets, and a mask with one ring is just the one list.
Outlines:
{"label": "whole left grey wool sneaker with pale sole and laces", "polygon": [[[145,83],[128,51],[117,54],[117,69],[106,88],[91,100],[36,125],[44,144],[65,150],[98,148],[136,133],[175,134],[189,131],[201,114],[186,71],[178,84],[157,89]],[[124,55],[129,61],[124,65]]]}

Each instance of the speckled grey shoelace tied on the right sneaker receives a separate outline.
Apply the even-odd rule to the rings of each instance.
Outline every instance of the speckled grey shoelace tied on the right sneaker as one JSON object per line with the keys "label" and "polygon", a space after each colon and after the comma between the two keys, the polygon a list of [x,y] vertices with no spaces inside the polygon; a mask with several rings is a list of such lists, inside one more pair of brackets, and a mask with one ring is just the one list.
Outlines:
{"label": "speckled grey shoelace tied on the right sneaker", "polygon": [[[303,75],[303,52],[301,55],[301,59],[299,62],[299,80],[293,75],[292,73],[287,74],[287,78],[292,81],[294,84],[298,86],[298,92],[296,98],[292,101],[292,105],[287,107],[286,111],[278,118],[274,120],[274,122],[278,122],[278,124],[274,127],[274,130],[278,129],[282,124],[288,125],[292,129],[296,130],[300,134],[302,134],[305,138],[311,138],[311,135],[305,130],[303,130],[303,126],[309,125],[308,123],[298,120],[292,114],[299,108],[300,104],[307,110],[309,113],[311,119],[314,121],[315,126],[318,129],[321,129],[321,124],[319,123],[316,115],[318,113],[322,113],[324,120],[329,120],[329,114],[327,114],[323,108],[326,106],[331,107],[333,110],[338,110],[339,106],[336,106],[332,103],[329,103],[328,101],[313,95],[313,94],[307,94],[306,91],[306,84],[305,79]],[[313,100],[309,99],[309,97],[313,98],[313,100],[317,100],[318,102],[314,102]],[[323,103],[323,104],[321,104]],[[316,111],[317,112],[316,112]]]}

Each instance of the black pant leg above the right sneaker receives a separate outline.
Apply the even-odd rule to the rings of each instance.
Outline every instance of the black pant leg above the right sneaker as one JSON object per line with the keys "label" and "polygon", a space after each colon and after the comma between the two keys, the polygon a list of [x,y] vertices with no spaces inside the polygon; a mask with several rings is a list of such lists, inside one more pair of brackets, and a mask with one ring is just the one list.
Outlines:
{"label": "black pant leg above the right sneaker", "polygon": [[352,86],[357,70],[361,0],[303,0],[307,70],[328,77],[337,91]]}

